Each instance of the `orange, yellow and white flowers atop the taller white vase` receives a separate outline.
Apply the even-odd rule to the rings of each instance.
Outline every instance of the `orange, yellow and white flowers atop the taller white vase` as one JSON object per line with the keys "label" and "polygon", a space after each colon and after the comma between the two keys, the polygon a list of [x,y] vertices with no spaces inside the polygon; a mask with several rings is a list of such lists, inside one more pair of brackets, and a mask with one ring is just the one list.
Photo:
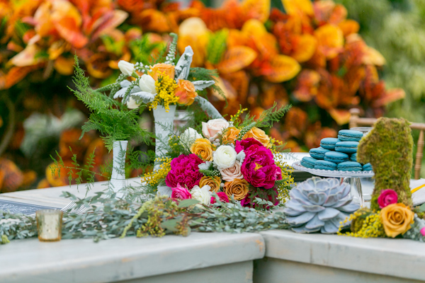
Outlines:
{"label": "orange, yellow and white flowers atop the taller white vase", "polygon": [[[215,81],[212,77],[214,71],[206,69],[191,69],[193,50],[186,46],[181,57],[176,61],[177,35],[171,33],[173,41],[169,46],[164,63],[143,65],[142,62],[132,64],[121,60],[118,62],[121,75],[111,88],[115,88],[117,83],[122,87],[113,95],[113,98],[123,98],[128,108],[138,108],[142,103],[150,103],[149,110],[157,109],[158,105],[163,105],[166,112],[169,112],[170,105],[191,105],[198,96],[196,91],[202,91],[212,86]],[[142,47],[141,47],[142,48]],[[138,74],[142,73],[142,76]],[[205,77],[208,81],[189,81],[190,73],[192,77]],[[133,81],[125,80],[131,77]]]}

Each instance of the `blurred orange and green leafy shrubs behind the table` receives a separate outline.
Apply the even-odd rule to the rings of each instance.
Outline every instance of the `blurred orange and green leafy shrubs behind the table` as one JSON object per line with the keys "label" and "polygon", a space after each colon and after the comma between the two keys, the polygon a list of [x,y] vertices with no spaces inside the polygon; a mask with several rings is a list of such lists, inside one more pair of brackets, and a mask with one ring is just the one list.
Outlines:
{"label": "blurred orange and green leafy shrubs behind the table", "polygon": [[425,0],[0,0],[0,192],[68,184],[50,172],[55,151],[82,165],[96,149],[100,171],[111,155],[97,133],[79,139],[89,112],[68,89],[74,54],[103,86],[170,32],[193,67],[217,69],[227,103],[208,98],[223,114],[292,104],[269,132],[291,151],[336,137],[350,108],[425,122]]}

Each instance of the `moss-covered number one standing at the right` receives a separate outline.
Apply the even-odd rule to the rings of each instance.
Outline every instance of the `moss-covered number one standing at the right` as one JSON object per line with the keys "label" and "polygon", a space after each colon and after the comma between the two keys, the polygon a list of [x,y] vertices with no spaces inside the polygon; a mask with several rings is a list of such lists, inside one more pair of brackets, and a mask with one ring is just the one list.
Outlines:
{"label": "moss-covered number one standing at the right", "polygon": [[413,165],[413,139],[409,122],[382,117],[358,144],[357,161],[372,164],[375,173],[370,209],[379,209],[382,190],[395,190],[398,202],[412,206],[410,172]]}

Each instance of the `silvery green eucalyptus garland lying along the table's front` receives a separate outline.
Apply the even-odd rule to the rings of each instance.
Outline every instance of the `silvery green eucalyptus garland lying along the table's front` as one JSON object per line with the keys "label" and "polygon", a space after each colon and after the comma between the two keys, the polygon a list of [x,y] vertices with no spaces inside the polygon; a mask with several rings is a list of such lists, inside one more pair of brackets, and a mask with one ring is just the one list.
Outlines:
{"label": "silvery green eucalyptus garland lying along the table's front", "polygon": [[[135,235],[164,236],[174,233],[187,236],[192,230],[242,233],[288,227],[282,212],[264,212],[242,207],[234,200],[223,203],[217,196],[212,207],[198,204],[196,200],[179,202],[159,196],[137,204],[134,200],[117,200],[115,195],[106,192],[96,192],[94,196],[84,199],[69,192],[64,192],[63,196],[74,200],[77,208],[86,207],[84,214],[64,212],[64,239],[93,238],[94,241],[99,241]],[[261,199],[256,202],[268,204]],[[37,236],[37,225],[33,217],[7,212],[0,212],[0,216],[5,218],[0,226],[1,243]]]}

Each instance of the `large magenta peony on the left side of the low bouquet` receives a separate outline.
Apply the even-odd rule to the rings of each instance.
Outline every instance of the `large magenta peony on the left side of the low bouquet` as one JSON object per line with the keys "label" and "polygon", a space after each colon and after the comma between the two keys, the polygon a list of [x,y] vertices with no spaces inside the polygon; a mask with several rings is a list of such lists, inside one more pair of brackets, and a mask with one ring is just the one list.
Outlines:
{"label": "large magenta peony on the left side of the low bouquet", "polygon": [[178,184],[188,187],[188,190],[199,185],[200,178],[198,165],[203,163],[195,154],[189,154],[174,158],[171,161],[171,171],[166,175],[165,183],[169,187],[177,187]]}

